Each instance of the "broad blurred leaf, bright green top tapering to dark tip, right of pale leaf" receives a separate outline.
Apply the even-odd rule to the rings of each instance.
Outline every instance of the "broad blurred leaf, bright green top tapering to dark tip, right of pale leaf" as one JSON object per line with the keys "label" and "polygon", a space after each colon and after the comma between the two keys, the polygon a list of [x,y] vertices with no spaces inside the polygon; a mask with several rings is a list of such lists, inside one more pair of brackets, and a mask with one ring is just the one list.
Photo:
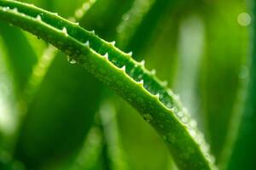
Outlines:
{"label": "broad blurred leaf, bright green top tapering to dark tip, right of pale leaf", "polygon": [[[228,4],[230,10],[226,12]],[[201,102],[207,139],[212,154],[219,161],[226,135],[234,130],[229,129],[229,124],[240,88],[238,73],[246,56],[247,36],[246,30],[241,31],[236,21],[237,15],[243,10],[240,1],[212,3],[206,9],[203,13],[206,54],[201,67]],[[219,22],[223,24],[219,25]]]}

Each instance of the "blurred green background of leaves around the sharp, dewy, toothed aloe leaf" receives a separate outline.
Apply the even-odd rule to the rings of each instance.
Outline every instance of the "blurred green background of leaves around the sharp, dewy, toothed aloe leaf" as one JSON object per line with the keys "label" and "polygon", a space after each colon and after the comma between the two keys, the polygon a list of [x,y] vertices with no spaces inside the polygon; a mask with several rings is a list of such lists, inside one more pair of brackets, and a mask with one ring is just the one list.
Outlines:
{"label": "blurred green background of leaves around the sharp, dewy, toothed aloe leaf", "polygon": [[[180,95],[220,169],[256,169],[253,0],[22,2],[145,59]],[[0,21],[1,170],[177,169],[137,111],[67,60]]]}

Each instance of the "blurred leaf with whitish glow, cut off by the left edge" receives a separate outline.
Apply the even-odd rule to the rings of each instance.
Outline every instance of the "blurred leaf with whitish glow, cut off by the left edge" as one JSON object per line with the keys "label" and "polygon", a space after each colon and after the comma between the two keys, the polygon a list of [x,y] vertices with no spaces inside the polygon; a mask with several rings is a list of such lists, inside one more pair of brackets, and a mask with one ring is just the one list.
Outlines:
{"label": "blurred leaf with whitish glow, cut off by the left edge", "polygon": [[11,136],[15,131],[18,115],[15,95],[15,80],[9,69],[7,49],[0,37],[0,154],[9,152]]}

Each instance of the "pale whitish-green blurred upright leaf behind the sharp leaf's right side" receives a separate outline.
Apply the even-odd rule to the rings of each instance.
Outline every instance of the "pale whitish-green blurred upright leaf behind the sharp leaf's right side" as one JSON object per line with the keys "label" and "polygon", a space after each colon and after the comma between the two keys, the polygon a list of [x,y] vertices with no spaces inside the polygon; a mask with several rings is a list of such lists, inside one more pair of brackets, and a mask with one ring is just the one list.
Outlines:
{"label": "pale whitish-green blurred upright leaf behind the sharp leaf's right side", "polygon": [[180,21],[177,47],[177,71],[174,88],[180,94],[184,105],[201,123],[198,78],[201,59],[204,54],[205,26],[199,14],[190,14]]}

